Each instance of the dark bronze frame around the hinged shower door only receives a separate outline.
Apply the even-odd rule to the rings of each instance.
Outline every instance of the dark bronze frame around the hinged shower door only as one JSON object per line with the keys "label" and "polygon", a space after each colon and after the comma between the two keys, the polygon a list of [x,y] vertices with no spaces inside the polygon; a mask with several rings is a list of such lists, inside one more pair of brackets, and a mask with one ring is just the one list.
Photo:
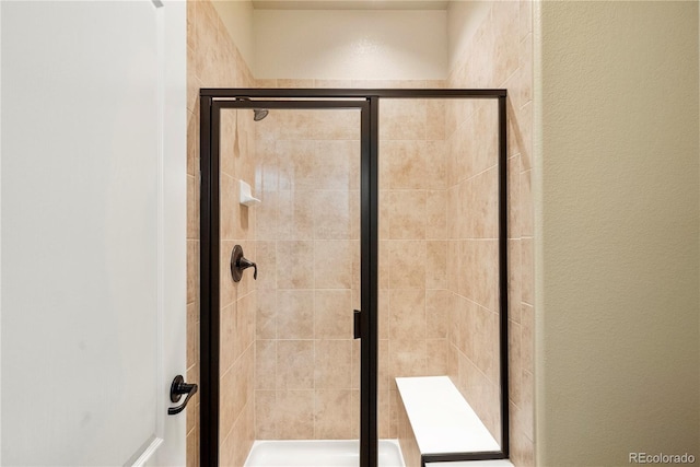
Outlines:
{"label": "dark bronze frame around the hinged shower door only", "polygon": [[[365,422],[376,419],[377,336],[376,336],[376,284],[377,284],[377,202],[378,195],[376,166],[376,110],[372,112],[372,98],[355,100],[304,100],[266,101],[270,93],[255,98],[260,90],[217,90],[218,96],[209,95],[211,90],[201,90],[201,341],[200,341],[200,459],[202,466],[219,463],[219,138],[220,116],[223,108],[269,108],[269,109],[352,109],[360,110],[360,192],[361,192],[361,280],[360,303],[362,319],[360,326],[361,346],[361,425],[360,458],[364,466],[376,466],[376,423]],[[223,94],[223,95],[221,95]],[[246,100],[235,100],[246,97]],[[311,96],[313,97],[313,96]],[[374,106],[376,109],[376,105]],[[373,118],[374,115],[374,118]],[[374,137],[373,137],[374,135]],[[372,166],[374,164],[374,166]],[[374,299],[373,299],[374,297]],[[348,314],[352,310],[348,310]],[[374,323],[372,323],[374,319]]]}

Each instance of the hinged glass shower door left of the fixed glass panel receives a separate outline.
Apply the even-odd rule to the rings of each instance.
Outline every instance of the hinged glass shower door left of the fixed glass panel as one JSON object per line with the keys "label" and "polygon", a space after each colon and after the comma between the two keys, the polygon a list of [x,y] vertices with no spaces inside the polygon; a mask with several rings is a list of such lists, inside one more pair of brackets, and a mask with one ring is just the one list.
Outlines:
{"label": "hinged glass shower door left of the fixed glass panel", "polygon": [[[270,453],[305,466],[360,465],[353,310],[369,301],[360,290],[366,110],[365,100],[214,106],[218,170],[209,172],[220,184],[220,254],[219,303],[210,308],[219,312],[219,365],[209,380],[219,386],[219,417],[218,442],[202,452],[215,450],[220,465],[256,465]],[[236,246],[257,280],[250,267],[234,281]]]}

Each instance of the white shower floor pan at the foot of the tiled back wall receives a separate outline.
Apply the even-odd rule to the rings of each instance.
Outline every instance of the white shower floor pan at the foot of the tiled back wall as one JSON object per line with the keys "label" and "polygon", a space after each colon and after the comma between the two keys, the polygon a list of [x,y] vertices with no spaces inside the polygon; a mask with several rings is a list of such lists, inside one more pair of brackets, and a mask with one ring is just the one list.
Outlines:
{"label": "white shower floor pan at the foot of the tiled back wall", "polygon": [[[360,444],[350,441],[256,441],[245,467],[358,467]],[[380,440],[380,467],[405,467],[395,440]]]}

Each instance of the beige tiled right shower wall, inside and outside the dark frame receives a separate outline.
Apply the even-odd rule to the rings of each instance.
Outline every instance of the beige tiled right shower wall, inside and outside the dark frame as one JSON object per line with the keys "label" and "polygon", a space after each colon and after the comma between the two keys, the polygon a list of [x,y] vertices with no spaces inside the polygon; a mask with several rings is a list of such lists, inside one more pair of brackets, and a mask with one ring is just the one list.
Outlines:
{"label": "beige tiled right shower wall, inside and outside the dark frame", "polygon": [[[489,14],[472,36],[463,59],[455,66],[450,74],[451,87],[504,87],[509,91],[508,98],[508,171],[509,171],[509,365],[510,365],[510,439],[511,460],[516,466],[532,466],[534,460],[534,276],[533,276],[533,198],[530,192],[532,174],[532,100],[533,100],[533,11],[530,1],[504,1],[493,2]],[[448,133],[454,138],[460,131],[460,122],[472,120],[479,126],[493,121],[488,116],[489,110],[483,106],[459,112],[455,109],[454,128],[448,119]],[[492,124],[491,124],[492,125]],[[466,127],[464,127],[466,128]],[[478,138],[475,136],[475,138]],[[477,151],[472,147],[475,138],[465,136],[458,138],[464,141],[467,151]],[[451,143],[451,154],[454,154],[454,143]],[[455,159],[448,157],[448,173],[462,174],[455,165]],[[467,168],[468,167],[464,167]],[[458,194],[460,199],[479,199],[480,188],[483,184],[492,183],[483,175],[471,171],[475,176],[457,175],[457,179],[450,182],[452,190]],[[462,178],[462,180],[459,180]],[[479,180],[479,178],[481,178]],[[456,182],[456,184],[454,183]],[[459,192],[458,190],[462,190]],[[492,200],[488,201],[492,202]],[[454,202],[450,203],[454,209]],[[447,219],[454,218],[454,212],[447,213]],[[476,232],[459,232],[459,226],[453,226],[457,234],[457,244],[472,245],[479,242],[488,243],[488,235],[475,235]],[[482,232],[483,233],[483,232]],[[479,240],[480,238],[480,240]],[[479,241],[477,241],[479,240]],[[487,260],[495,260],[492,248],[487,255]],[[474,250],[476,254],[478,250]],[[469,271],[456,270],[457,264],[448,267],[448,283],[451,289],[457,287],[457,293],[452,294],[452,312],[457,317],[452,323],[455,329],[477,330],[480,327],[493,325],[495,317],[493,308],[483,306],[478,297],[478,288],[469,293],[459,292],[457,277],[464,280],[469,277]],[[466,276],[465,276],[466,275]],[[478,278],[477,278],[478,280]],[[462,285],[465,288],[465,285]],[[475,295],[474,293],[477,293]],[[487,295],[483,295],[487,296]],[[455,308],[454,306],[463,307]],[[464,313],[466,310],[466,313]],[[471,312],[469,312],[471,310]],[[489,312],[487,312],[487,310]],[[460,312],[462,311],[462,312]],[[490,313],[490,314],[489,314]],[[480,318],[479,318],[480,316]],[[476,319],[475,319],[476,317]],[[454,336],[454,337],[453,337]],[[478,336],[478,332],[477,332]],[[459,341],[459,335],[451,336],[451,376],[457,382],[464,394],[470,394],[472,387],[465,384],[465,376],[476,376],[485,381],[482,387],[492,387],[489,376],[490,363],[498,358],[498,349],[489,346],[477,345],[472,351],[465,352],[467,343]],[[491,352],[491,353],[490,353]],[[490,385],[490,386],[489,386]],[[477,411],[485,420],[493,420],[494,415],[487,407],[493,407],[493,392],[483,392],[470,397],[475,401]]]}

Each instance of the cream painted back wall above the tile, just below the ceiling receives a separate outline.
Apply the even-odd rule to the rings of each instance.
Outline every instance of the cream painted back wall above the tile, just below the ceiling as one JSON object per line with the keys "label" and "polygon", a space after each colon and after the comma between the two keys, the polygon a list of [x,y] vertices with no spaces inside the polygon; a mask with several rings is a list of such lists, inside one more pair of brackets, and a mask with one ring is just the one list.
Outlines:
{"label": "cream painted back wall above the tile, just below the ceiling", "polygon": [[446,11],[255,10],[258,79],[442,80]]}

